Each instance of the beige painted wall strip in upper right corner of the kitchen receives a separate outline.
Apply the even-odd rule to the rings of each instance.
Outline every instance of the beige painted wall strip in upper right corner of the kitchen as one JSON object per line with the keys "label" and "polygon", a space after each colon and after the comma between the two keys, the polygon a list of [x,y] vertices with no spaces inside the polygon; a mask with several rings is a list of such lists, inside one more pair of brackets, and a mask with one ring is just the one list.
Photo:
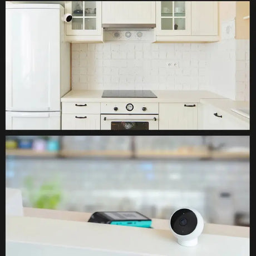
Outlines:
{"label": "beige painted wall strip in upper right corner of the kitchen", "polygon": [[235,15],[235,38],[249,39],[250,38],[250,19],[243,19],[244,16],[250,14],[249,1],[237,1]]}

